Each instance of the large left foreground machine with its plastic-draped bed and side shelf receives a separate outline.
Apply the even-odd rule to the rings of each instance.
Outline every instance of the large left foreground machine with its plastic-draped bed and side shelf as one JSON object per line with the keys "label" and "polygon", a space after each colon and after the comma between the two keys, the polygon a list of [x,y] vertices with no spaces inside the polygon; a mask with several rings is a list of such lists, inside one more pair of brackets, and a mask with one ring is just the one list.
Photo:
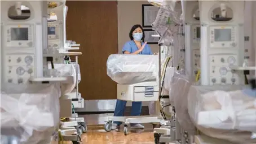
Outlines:
{"label": "large left foreground machine with its plastic-draped bed and side shelf", "polygon": [[44,75],[46,24],[46,1],[1,1],[1,140],[50,143],[58,136],[59,81],[66,78]]}

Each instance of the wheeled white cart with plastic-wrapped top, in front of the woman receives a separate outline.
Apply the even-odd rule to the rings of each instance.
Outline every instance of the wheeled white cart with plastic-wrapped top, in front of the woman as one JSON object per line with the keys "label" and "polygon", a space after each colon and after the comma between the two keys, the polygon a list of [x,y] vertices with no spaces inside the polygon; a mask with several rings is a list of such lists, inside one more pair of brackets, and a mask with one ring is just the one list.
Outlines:
{"label": "wheeled white cart with plastic-wrapped top, in front of the woman", "polygon": [[[157,101],[158,55],[112,54],[107,61],[107,74],[116,81],[117,99],[126,101]],[[151,116],[108,117],[105,131],[112,130],[112,122],[125,122],[123,132],[128,134],[129,123],[159,123]]]}

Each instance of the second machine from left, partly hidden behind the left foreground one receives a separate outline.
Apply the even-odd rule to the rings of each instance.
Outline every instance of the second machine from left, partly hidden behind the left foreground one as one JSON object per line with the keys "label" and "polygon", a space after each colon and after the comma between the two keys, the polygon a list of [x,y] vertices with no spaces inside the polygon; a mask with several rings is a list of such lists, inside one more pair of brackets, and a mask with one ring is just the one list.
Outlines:
{"label": "second machine from left, partly hidden behind the left foreground one", "polygon": [[[78,66],[78,57],[76,62],[70,63],[69,55],[79,55],[80,52],[68,52],[68,50],[78,50],[80,44],[74,41],[67,41],[66,36],[66,17],[68,7],[65,1],[48,1],[48,51],[53,53],[54,67],[59,75],[68,77],[68,81],[61,83],[60,97],[60,117],[65,117],[61,123],[60,131],[64,141],[73,143],[81,142],[81,134],[87,131],[84,118],[78,118],[74,108],[83,108],[83,98],[78,92],[78,83],[81,80]],[[73,48],[76,46],[76,48]],[[67,56],[68,55],[68,56]],[[81,103],[78,105],[77,103]],[[70,105],[70,111],[67,112],[67,105]],[[65,110],[65,112],[63,112]]]}

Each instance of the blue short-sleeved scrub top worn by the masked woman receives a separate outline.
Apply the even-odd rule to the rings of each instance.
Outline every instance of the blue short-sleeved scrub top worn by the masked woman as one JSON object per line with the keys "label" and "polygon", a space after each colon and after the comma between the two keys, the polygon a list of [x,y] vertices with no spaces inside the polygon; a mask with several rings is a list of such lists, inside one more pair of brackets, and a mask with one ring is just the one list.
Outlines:
{"label": "blue short-sleeved scrub top worn by the masked woman", "polygon": [[[144,43],[142,43],[143,45]],[[137,45],[135,44],[135,42],[133,40],[131,41],[127,41],[125,43],[125,45],[123,45],[123,49],[122,49],[122,53],[125,53],[125,51],[130,52],[130,53],[134,53],[138,50]],[[142,52],[140,52],[139,54],[153,54],[151,51],[151,48],[149,47],[148,44],[145,45],[145,48],[142,50]]]}

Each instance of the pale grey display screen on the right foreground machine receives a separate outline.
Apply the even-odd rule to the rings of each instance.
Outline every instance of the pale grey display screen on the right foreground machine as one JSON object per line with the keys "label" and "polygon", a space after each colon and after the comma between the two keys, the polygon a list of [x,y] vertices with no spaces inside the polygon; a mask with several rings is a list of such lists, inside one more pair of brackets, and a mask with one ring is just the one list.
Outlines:
{"label": "pale grey display screen on the right foreground machine", "polygon": [[231,29],[215,29],[214,41],[231,41]]}

